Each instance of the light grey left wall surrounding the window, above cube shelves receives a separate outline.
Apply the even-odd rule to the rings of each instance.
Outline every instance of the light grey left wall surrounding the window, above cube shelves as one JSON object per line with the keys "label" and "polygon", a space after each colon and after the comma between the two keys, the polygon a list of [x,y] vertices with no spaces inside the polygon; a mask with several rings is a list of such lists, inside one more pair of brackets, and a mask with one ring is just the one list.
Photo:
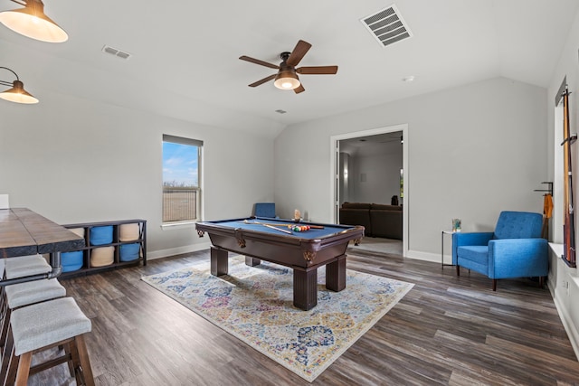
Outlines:
{"label": "light grey left wall surrounding the window, above cube shelves", "polygon": [[161,229],[163,134],[204,141],[205,220],[273,201],[271,138],[46,92],[38,105],[3,101],[0,117],[0,193],[11,206],[61,224],[147,220],[149,258],[209,241],[195,226]]}

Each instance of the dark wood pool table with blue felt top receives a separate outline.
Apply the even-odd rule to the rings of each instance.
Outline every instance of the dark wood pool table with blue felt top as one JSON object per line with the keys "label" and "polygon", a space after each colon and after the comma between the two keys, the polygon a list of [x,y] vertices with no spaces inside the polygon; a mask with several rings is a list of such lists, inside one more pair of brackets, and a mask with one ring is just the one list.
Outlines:
{"label": "dark wood pool table with blue felt top", "polygon": [[[289,225],[310,225],[292,231]],[[346,248],[364,237],[364,227],[321,224],[262,217],[196,223],[199,237],[206,232],[211,247],[211,274],[226,275],[228,252],[245,256],[245,264],[261,260],[293,269],[293,304],[309,310],[318,304],[318,268],[326,266],[326,287],[339,292],[346,287]]]}

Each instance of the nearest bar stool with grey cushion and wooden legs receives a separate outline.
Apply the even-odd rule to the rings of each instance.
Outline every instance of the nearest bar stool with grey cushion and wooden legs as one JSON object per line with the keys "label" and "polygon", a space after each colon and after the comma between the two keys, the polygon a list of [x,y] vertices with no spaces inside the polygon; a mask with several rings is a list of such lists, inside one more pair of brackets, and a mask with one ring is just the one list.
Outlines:
{"label": "nearest bar stool with grey cushion and wooden legs", "polygon": [[[71,297],[61,297],[13,311],[10,318],[14,348],[5,384],[24,386],[29,374],[42,372],[69,362],[78,385],[94,385],[84,334],[90,333],[90,319]],[[65,345],[69,349],[59,358],[31,367],[36,351]]]}

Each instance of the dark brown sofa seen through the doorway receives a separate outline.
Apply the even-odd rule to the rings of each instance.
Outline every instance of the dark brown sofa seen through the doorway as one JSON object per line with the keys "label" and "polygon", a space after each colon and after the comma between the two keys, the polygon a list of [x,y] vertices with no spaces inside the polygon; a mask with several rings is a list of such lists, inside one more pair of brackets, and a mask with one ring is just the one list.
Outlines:
{"label": "dark brown sofa seen through the doorway", "polygon": [[340,223],[364,226],[365,236],[402,240],[402,206],[344,202]]}

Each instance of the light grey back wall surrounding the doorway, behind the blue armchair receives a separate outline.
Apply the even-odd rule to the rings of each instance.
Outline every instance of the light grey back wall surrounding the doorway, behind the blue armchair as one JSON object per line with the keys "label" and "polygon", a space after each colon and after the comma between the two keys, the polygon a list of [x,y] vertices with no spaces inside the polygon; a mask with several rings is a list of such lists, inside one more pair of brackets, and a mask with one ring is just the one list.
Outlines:
{"label": "light grey back wall surrounding the doorway, behind the blue armchair", "polygon": [[[546,181],[546,89],[504,78],[318,119],[275,139],[275,200],[330,221],[329,138],[408,124],[409,257],[440,261],[441,230],[493,229],[502,210],[542,212]],[[299,148],[307,157],[295,157]]]}

